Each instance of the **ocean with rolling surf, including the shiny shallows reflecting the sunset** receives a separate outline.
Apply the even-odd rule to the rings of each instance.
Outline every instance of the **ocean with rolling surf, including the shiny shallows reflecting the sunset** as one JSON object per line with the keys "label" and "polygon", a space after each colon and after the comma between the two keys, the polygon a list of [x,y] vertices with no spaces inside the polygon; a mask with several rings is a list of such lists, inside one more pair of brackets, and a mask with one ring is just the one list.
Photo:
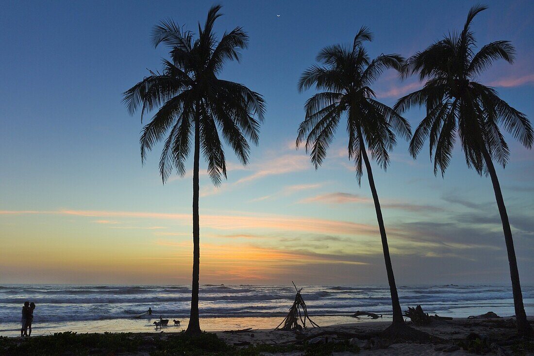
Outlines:
{"label": "ocean with rolling surf, including the shiny shallows reflecting the sunset", "polygon": [[[319,325],[370,321],[356,311],[384,314],[390,320],[385,286],[304,285],[308,313]],[[398,287],[403,311],[420,304],[425,312],[465,318],[493,311],[514,314],[512,290],[496,285],[427,285]],[[202,285],[200,317],[204,330],[276,327],[295,297],[293,285]],[[21,307],[34,301],[32,335],[59,331],[155,332],[154,321],[170,319],[166,332],[187,327],[191,288],[186,285],[0,285],[0,335],[20,335]],[[534,287],[523,286],[527,315],[534,315]],[[151,307],[151,318],[133,319]],[[172,320],[182,321],[174,326]],[[158,331],[159,332],[159,331]]]}

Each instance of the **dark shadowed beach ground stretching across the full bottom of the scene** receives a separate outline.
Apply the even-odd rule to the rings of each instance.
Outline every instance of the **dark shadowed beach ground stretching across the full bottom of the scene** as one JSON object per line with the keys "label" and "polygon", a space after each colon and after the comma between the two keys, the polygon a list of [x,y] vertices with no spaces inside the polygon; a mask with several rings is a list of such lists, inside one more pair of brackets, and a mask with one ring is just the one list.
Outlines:
{"label": "dark shadowed beach ground stretching across the full bottom of the scene", "polygon": [[[534,323],[534,317],[529,317]],[[499,319],[454,319],[434,320],[428,326],[415,327],[427,332],[428,342],[395,342],[382,340],[379,347],[371,347],[376,335],[384,330],[389,322],[360,322],[335,326],[307,328],[302,332],[273,329],[246,328],[240,330],[215,331],[204,334],[208,342],[183,343],[183,333],[166,332],[166,328],[156,333],[117,333],[117,334],[77,334],[37,336],[28,338],[0,338],[0,354],[40,354],[39,347],[53,347],[51,350],[67,350],[58,354],[120,354],[120,355],[160,355],[160,354],[209,354],[209,355],[468,355],[497,354],[534,355],[534,343],[530,340],[514,339],[516,335],[513,318]],[[469,337],[479,338],[469,342]],[[471,335],[471,336],[470,336]],[[99,338],[99,343],[95,343]],[[100,339],[102,338],[102,339]],[[105,341],[103,341],[105,339]],[[87,345],[84,346],[84,341]],[[370,342],[371,340],[371,342]],[[373,342],[374,340],[374,342]],[[67,343],[67,349],[65,349]],[[75,345],[75,346],[73,346]],[[100,345],[100,346],[98,346]],[[177,346],[178,345],[178,346]],[[200,345],[200,346],[199,346]],[[336,352],[343,346],[344,351]],[[352,345],[352,346],[350,346]],[[32,349],[32,347],[34,349]],[[63,349],[61,349],[63,347]],[[74,349],[73,349],[74,347]],[[87,347],[87,349],[84,349]],[[100,347],[100,349],[99,349]],[[173,348],[174,347],[174,348]],[[181,347],[181,349],[180,349]],[[200,347],[200,349],[197,349]],[[206,347],[206,349],[203,349]],[[59,351],[58,351],[59,352]],[[41,353],[56,354],[56,353]]]}

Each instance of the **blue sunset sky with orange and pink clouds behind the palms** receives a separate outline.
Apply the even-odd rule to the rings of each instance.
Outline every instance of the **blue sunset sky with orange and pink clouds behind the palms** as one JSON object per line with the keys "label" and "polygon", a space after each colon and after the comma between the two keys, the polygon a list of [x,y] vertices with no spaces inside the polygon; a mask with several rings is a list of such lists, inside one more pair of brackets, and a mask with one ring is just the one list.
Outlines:
{"label": "blue sunset sky with orange and pink clouds behind the palms", "polygon": [[[152,27],[171,18],[196,30],[213,4],[0,0],[0,283],[190,283],[192,161],[162,184],[161,146],[142,165],[140,115],[121,98],[166,57]],[[295,149],[313,94],[296,83],[321,48],[351,43],[362,25],[375,35],[372,56],[408,57],[460,29],[472,4],[222,2],[217,33],[242,26],[250,45],[221,78],[260,92],[267,112],[248,166],[227,149],[221,187],[201,163],[201,283],[387,283],[371,192],[355,179],[343,125],[319,169]],[[478,80],[532,119],[534,3],[486,4],[473,22],[478,43],[510,40],[517,58]],[[393,105],[420,87],[388,71],[374,90]],[[405,117],[415,127],[422,113]],[[534,156],[506,138],[511,160],[497,173],[521,280],[532,285]],[[509,284],[490,179],[467,168],[458,143],[444,177],[428,148],[413,160],[400,141],[387,172],[373,170],[398,285]]]}

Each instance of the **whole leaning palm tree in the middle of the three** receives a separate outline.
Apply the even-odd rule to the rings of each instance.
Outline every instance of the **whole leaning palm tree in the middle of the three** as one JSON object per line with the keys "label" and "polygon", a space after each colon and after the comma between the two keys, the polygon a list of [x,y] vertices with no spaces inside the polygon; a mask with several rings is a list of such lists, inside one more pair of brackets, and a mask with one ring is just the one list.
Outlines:
{"label": "whole leaning palm tree in the middle of the three", "polygon": [[364,41],[372,41],[372,34],[367,27],[359,30],[351,47],[332,45],[321,50],[317,61],[322,66],[314,65],[302,74],[299,90],[302,92],[315,86],[319,93],[305,104],[306,115],[299,127],[296,146],[298,148],[305,141],[306,152],[310,153],[311,162],[317,169],[326,157],[342,115],[347,118],[348,156],[355,162],[358,184],[365,164],[374,199],[393,307],[393,323],[388,332],[389,336],[396,338],[402,337],[400,331],[408,328],[400,309],[386,229],[367,150],[371,158],[386,169],[389,164],[388,151],[396,143],[395,133],[406,140],[411,136],[410,124],[389,106],[375,100],[370,88],[385,69],[400,70],[404,58],[382,54],[371,60],[362,45]]}

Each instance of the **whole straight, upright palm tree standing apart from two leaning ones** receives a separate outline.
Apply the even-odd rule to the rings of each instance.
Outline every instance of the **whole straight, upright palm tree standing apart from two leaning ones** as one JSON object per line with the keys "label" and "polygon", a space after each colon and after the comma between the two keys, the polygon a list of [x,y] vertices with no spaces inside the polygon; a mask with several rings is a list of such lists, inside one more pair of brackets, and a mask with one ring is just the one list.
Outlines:
{"label": "whole straight, upright palm tree standing apart from two leaning ones", "polygon": [[246,86],[218,79],[224,64],[238,60],[240,50],[247,48],[248,35],[241,27],[224,33],[217,40],[213,33],[215,20],[221,16],[220,5],[211,7],[204,27],[199,22],[198,38],[172,21],[154,27],[154,47],[166,44],[170,60],[163,59],[162,73],[150,75],[124,92],[123,101],[130,113],[143,114],[159,107],[144,126],[140,138],[141,158],[162,141],[160,174],[163,183],[176,169],[185,174],[185,161],[193,139],[193,282],[191,315],[187,332],[201,331],[199,323],[199,161],[200,149],[207,162],[208,174],[215,185],[226,178],[223,144],[233,149],[242,164],[247,164],[250,146],[258,142],[265,104],[262,96]]}

